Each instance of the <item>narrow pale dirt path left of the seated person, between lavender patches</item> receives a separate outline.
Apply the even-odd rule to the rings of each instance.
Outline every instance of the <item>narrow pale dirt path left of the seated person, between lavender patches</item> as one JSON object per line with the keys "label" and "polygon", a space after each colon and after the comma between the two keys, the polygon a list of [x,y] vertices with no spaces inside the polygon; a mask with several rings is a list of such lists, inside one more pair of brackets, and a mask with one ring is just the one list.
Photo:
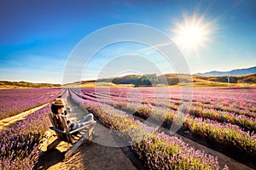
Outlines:
{"label": "narrow pale dirt path left of the seated person, between lavender patches", "polygon": [[22,113],[20,113],[18,115],[10,116],[10,117],[7,117],[5,119],[0,120],[0,131],[4,127],[7,127],[10,124],[13,124],[14,122],[17,122],[17,121],[20,121],[22,119],[25,119],[26,116],[28,116],[29,114],[32,114],[35,111],[38,111],[39,109],[43,108],[45,105],[49,105],[49,103],[44,104],[44,105],[40,105],[40,106],[35,107],[35,108],[33,108],[33,109],[29,110],[29,111],[24,111],[24,112],[22,112]]}

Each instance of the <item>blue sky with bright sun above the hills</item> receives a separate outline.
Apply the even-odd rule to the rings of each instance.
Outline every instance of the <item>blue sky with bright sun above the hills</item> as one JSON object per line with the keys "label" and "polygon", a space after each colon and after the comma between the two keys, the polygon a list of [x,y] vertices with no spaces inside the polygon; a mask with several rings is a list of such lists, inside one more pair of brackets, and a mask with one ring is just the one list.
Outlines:
{"label": "blue sky with bright sun above the hills", "polygon": [[[197,30],[193,28],[191,36],[193,17]],[[0,0],[0,23],[0,80],[62,83],[79,42],[105,26],[122,23],[162,31],[175,42],[192,74],[256,65],[254,0]],[[124,63],[133,67],[122,71]],[[147,70],[150,63],[155,69]],[[83,65],[81,79],[176,71],[160,53],[136,42],[99,49]]]}

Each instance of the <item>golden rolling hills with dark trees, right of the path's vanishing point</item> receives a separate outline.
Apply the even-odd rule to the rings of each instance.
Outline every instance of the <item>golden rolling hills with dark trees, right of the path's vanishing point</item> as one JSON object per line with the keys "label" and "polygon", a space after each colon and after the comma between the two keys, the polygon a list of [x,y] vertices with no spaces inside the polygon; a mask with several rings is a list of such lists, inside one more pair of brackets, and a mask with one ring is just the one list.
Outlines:
{"label": "golden rolling hills with dark trees, right of the path's vanishing point", "polygon": [[204,77],[198,75],[174,74],[156,76],[127,75],[124,77],[103,78],[96,81],[82,81],[69,84],[69,87],[160,87],[188,85],[194,87],[256,87],[256,74],[236,77]]}

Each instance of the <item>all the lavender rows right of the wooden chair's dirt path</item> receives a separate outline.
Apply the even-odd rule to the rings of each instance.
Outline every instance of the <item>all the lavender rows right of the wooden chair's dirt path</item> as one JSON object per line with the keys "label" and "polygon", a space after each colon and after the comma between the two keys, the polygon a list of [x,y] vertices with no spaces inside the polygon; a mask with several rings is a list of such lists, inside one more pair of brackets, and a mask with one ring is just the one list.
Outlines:
{"label": "all the lavender rows right of the wooden chair's dirt path", "polygon": [[[98,116],[106,126],[113,127],[125,135],[129,133],[131,141],[133,141],[134,135],[132,127],[139,126],[137,123],[141,118],[146,120],[150,116],[150,119],[154,120],[153,122],[162,121],[162,127],[168,128],[172,126],[172,123],[176,123],[178,111],[182,111],[186,117],[179,132],[189,133],[194,139],[204,139],[210,147],[212,144],[212,148],[216,148],[214,145],[221,146],[222,150],[218,151],[222,151],[224,154],[226,150],[232,150],[231,154],[246,156],[247,160],[251,161],[249,164],[252,167],[255,166],[253,163],[256,158],[256,135],[254,133],[256,129],[256,100],[254,99],[256,91],[254,88],[194,88],[190,107],[183,109],[180,109],[180,105],[186,101],[186,97],[184,97],[186,94],[181,99],[179,88],[169,88],[169,94],[161,93],[159,89],[155,93],[154,90],[154,88],[137,88],[137,90],[131,88],[111,88],[110,90],[88,88],[81,91],[73,90],[72,97],[82,103],[84,108]],[[113,113],[125,115],[108,117]],[[120,122],[121,124],[119,124]],[[124,125],[125,122],[129,123]],[[143,134],[140,132],[140,135],[148,134],[150,128],[153,127],[143,127]],[[180,167],[182,169],[218,169],[218,158],[214,158],[215,162],[212,161],[209,164],[199,163],[196,156],[189,157],[195,157],[197,161],[189,160],[186,156],[183,159],[187,161],[177,161],[174,157],[181,156],[183,150],[188,149],[181,147],[179,148],[180,153],[172,152],[173,145],[169,146],[173,142],[172,135],[165,136],[166,134],[162,133],[154,135],[157,136],[157,139],[151,139],[153,137],[150,136],[142,143],[133,145],[133,150],[150,169],[177,169]],[[152,146],[148,144],[152,144]],[[151,153],[153,150],[154,153]],[[173,157],[167,159],[166,156],[170,155]],[[235,158],[237,157],[235,156]],[[211,160],[206,157],[203,159]],[[188,161],[195,162],[195,164],[190,164],[190,167],[187,167],[188,165],[182,163]],[[198,164],[202,167],[195,166]]]}

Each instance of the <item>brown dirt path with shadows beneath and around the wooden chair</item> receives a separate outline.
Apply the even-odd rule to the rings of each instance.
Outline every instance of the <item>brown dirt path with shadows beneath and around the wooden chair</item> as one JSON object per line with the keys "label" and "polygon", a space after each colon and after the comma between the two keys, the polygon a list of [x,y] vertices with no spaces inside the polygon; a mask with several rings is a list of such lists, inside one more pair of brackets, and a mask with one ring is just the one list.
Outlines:
{"label": "brown dirt path with shadows beneath and around the wooden chair", "polygon": [[[76,116],[78,120],[85,115],[84,110],[81,109],[79,105],[74,105],[70,99],[68,99],[67,102],[72,112],[77,113]],[[51,137],[48,143],[55,138],[56,137]],[[95,137],[93,140],[107,140],[114,143],[114,136],[112,134],[106,135],[106,128],[96,123]],[[63,156],[65,151],[70,147],[70,144],[61,142],[55,150],[50,151],[45,151],[46,146],[44,145],[42,148],[44,151],[43,155],[40,156],[35,169],[137,169],[134,163],[126,156],[122,148],[108,147],[96,143],[97,142],[82,144],[77,152],[67,160],[65,160]]]}

